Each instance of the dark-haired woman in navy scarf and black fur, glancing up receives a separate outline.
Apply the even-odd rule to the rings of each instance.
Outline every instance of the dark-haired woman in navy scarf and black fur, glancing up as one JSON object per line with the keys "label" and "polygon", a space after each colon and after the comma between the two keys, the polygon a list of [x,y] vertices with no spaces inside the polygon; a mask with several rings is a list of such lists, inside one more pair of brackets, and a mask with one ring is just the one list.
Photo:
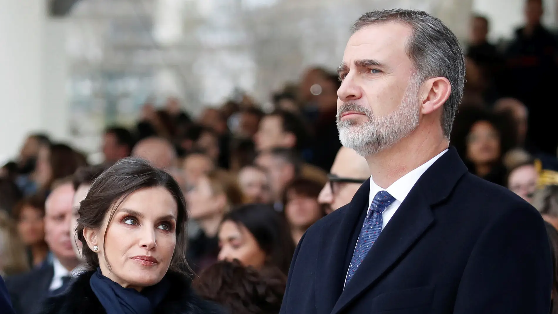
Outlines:
{"label": "dark-haired woman in navy scarf and black fur, glancing up", "polygon": [[125,158],[95,180],[83,201],[78,239],[89,271],[47,299],[44,313],[220,312],[190,287],[184,256],[184,195],[169,173]]}

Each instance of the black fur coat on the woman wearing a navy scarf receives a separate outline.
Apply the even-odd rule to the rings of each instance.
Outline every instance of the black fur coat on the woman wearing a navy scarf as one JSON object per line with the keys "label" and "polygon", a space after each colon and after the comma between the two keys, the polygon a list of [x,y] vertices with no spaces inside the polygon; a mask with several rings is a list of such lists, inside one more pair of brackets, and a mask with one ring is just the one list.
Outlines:
{"label": "black fur coat on the woman wearing a navy scarf", "polygon": [[[68,291],[60,296],[48,298],[42,307],[42,314],[105,314],[103,306],[89,286],[89,279],[95,272],[81,274],[71,284]],[[169,294],[155,309],[153,314],[225,314],[219,305],[204,301],[196,296],[190,286],[190,279],[177,273],[167,273],[171,282]]]}

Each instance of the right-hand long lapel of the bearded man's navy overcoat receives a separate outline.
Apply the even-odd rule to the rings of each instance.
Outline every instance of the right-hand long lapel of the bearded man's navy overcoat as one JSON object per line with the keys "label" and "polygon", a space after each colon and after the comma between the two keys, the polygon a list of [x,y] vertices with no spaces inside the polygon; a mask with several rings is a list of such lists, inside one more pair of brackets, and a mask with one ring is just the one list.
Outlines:
{"label": "right-hand long lapel of the bearded man's navy overcoat", "polygon": [[432,206],[448,197],[466,172],[455,148],[450,148],[421,176],[341,293],[331,314],[338,314],[395,267],[434,223]]}

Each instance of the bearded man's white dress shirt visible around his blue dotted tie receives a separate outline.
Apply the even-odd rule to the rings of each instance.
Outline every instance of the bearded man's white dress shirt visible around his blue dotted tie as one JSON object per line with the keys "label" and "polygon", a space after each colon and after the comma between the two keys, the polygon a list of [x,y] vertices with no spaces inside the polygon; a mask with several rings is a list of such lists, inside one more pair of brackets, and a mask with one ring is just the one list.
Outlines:
{"label": "bearded man's white dress shirt visible around his blue dotted tie", "polygon": [[[445,149],[443,152],[437,154],[431,160],[423,163],[422,165],[415,168],[411,172],[408,172],[405,176],[398,178],[397,181],[393,182],[392,185],[387,187],[387,189],[385,190],[382,189],[374,182],[372,176],[370,177],[370,196],[368,197],[369,200],[368,207],[365,209],[367,212],[370,209],[370,206],[372,206],[372,201],[374,200],[374,196],[376,196],[376,194],[379,191],[387,191],[391,196],[393,196],[393,198],[395,198],[395,201],[389,204],[389,206],[387,206],[386,209],[382,212],[382,230],[386,228],[387,223],[389,223],[389,220],[393,217],[393,214],[395,214],[395,212],[397,211],[401,203],[405,200],[407,194],[409,194],[413,186],[415,186],[415,183],[419,181],[419,178],[422,176],[422,173],[425,173],[426,170],[430,166],[432,166],[432,163],[438,160],[438,158],[440,158],[447,151],[448,149]],[[347,282],[348,274],[349,274],[349,270],[347,269],[347,274],[345,275],[345,282]]]}

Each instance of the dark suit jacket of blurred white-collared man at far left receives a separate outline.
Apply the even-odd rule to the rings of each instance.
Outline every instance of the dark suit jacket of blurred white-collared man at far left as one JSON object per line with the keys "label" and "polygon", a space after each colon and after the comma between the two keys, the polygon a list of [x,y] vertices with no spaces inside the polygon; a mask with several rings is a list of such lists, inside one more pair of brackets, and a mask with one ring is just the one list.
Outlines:
{"label": "dark suit jacket of blurred white-collared man at far left", "polygon": [[41,310],[41,303],[49,296],[52,277],[54,267],[51,263],[43,263],[28,273],[6,278],[16,314],[35,314]]}

